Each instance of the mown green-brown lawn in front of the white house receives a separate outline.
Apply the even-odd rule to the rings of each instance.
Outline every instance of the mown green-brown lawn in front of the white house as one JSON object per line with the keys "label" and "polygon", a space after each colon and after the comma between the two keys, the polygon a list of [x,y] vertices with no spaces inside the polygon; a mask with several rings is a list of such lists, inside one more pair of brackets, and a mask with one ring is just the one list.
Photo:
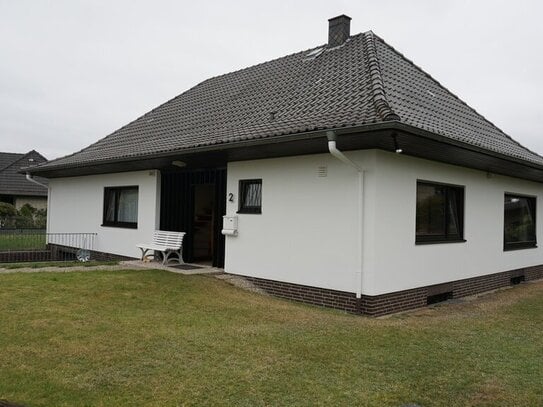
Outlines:
{"label": "mown green-brown lawn in front of the white house", "polygon": [[369,319],[164,271],[0,275],[30,406],[543,404],[543,284]]}

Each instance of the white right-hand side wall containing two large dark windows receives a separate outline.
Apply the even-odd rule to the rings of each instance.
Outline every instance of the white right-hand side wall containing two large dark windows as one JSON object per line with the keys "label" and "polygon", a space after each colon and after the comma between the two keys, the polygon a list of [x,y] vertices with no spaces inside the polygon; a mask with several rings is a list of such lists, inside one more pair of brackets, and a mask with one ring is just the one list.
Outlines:
{"label": "white right-hand side wall containing two large dark windows", "polygon": [[[536,197],[543,238],[543,184],[377,152],[375,263],[364,292],[376,295],[543,264],[543,249],[504,251],[504,194]],[[465,187],[463,243],[415,245],[417,180]],[[540,242],[541,243],[541,242]]]}

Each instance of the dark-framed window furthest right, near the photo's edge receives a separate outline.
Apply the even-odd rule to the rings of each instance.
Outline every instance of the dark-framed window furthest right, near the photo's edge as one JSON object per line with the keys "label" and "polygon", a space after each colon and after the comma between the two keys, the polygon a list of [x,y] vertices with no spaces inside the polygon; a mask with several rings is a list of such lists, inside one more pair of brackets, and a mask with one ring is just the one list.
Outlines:
{"label": "dark-framed window furthest right, near the photo's edge", "polygon": [[505,194],[503,249],[536,247],[535,198]]}

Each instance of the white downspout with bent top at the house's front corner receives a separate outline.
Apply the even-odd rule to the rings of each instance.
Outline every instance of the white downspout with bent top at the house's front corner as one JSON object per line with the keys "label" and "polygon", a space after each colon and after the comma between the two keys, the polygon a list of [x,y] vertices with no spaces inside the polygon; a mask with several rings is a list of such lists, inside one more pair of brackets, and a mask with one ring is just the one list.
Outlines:
{"label": "white downspout with bent top at the house's front corner", "polygon": [[353,167],[358,172],[358,247],[360,253],[358,257],[358,270],[356,271],[356,298],[362,298],[362,274],[364,267],[364,169],[357,163],[343,154],[336,147],[337,136],[333,131],[327,131],[328,150],[330,154],[343,163]]}

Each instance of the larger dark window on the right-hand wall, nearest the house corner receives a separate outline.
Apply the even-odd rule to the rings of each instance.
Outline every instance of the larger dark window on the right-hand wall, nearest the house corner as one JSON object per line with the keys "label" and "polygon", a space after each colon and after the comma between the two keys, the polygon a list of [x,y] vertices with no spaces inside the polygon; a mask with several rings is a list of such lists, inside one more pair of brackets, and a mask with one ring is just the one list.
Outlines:
{"label": "larger dark window on the right-hand wall, nearest the house corner", "polygon": [[464,188],[417,182],[416,243],[464,241]]}

